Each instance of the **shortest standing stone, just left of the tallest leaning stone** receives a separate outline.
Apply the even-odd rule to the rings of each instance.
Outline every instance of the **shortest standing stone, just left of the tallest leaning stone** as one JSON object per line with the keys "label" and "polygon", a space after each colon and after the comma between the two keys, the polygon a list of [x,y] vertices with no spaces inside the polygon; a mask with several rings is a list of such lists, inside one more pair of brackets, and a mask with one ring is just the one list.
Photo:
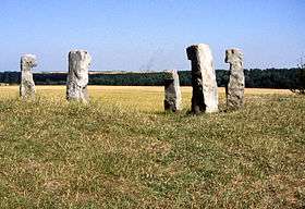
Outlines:
{"label": "shortest standing stone, just left of the tallest leaning stone", "polygon": [[179,75],[176,71],[170,71],[168,74],[169,78],[164,79],[164,109],[176,112],[182,109]]}

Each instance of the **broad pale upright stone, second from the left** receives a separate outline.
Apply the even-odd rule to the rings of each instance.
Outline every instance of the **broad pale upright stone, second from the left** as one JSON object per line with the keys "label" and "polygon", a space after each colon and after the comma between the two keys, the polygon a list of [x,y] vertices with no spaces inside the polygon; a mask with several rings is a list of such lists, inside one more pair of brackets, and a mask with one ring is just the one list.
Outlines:
{"label": "broad pale upright stone, second from the left", "polygon": [[69,52],[69,73],[66,81],[66,99],[87,102],[88,69],[91,57],[87,51]]}

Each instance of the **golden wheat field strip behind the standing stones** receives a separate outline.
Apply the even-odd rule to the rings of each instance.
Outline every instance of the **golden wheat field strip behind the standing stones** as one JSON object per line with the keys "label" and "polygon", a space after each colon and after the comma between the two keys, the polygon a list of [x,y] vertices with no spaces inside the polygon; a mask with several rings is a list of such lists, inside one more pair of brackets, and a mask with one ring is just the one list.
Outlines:
{"label": "golden wheat field strip behind the standing stones", "polygon": [[[37,86],[37,95],[64,100],[65,86]],[[192,87],[181,87],[183,107],[191,107]],[[163,87],[152,86],[88,86],[90,99],[100,102],[122,103],[137,110],[163,110]],[[224,88],[219,88],[220,102],[224,102]],[[246,88],[245,95],[291,95],[288,89]],[[13,98],[19,96],[19,86],[0,87],[0,97]]]}

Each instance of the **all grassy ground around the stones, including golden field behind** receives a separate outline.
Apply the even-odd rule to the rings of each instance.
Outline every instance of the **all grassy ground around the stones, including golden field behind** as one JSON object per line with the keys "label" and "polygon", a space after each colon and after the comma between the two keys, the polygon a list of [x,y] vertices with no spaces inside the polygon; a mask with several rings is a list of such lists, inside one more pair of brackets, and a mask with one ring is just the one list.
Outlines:
{"label": "all grassy ground around the stones, including golden field behind", "polygon": [[90,103],[0,87],[0,208],[304,208],[305,97],[246,89],[245,108],[163,112],[161,87],[90,86]]}

